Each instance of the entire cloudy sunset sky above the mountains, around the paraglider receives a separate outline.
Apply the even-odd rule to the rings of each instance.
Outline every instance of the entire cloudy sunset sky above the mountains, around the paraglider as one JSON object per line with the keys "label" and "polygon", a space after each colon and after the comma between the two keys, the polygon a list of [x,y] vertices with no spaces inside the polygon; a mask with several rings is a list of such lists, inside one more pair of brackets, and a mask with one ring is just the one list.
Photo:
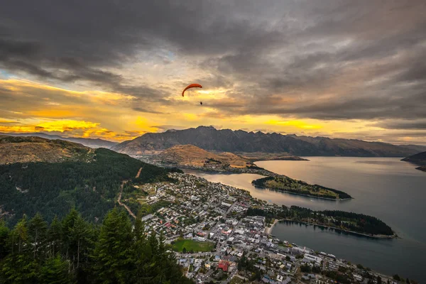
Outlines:
{"label": "entire cloudy sunset sky above the mountains, around the paraglider", "polygon": [[426,145],[425,15],[424,0],[8,1],[0,132]]}

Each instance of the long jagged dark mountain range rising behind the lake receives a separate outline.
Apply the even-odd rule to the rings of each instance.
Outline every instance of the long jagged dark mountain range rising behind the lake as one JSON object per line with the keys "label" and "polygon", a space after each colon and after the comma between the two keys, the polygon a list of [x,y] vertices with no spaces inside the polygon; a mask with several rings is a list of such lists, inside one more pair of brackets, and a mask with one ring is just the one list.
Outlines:
{"label": "long jagged dark mountain range rising behind the lake", "polygon": [[207,151],[287,153],[301,156],[405,157],[418,153],[413,148],[381,142],[296,136],[294,134],[282,135],[260,131],[255,133],[242,130],[232,131],[231,129],[217,130],[212,126],[169,130],[163,133],[146,133],[131,141],[113,146],[111,150],[129,155],[143,155],[185,144],[191,144]]}

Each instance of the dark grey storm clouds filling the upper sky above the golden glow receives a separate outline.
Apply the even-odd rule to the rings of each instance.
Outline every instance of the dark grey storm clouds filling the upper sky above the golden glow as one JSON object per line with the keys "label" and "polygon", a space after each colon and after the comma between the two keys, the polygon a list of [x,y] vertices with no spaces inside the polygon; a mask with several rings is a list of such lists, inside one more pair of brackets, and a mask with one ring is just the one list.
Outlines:
{"label": "dark grey storm clouds filling the upper sky above the golden glow", "polygon": [[170,90],[119,70],[163,49],[204,72],[191,79],[231,89],[229,99],[205,102],[225,115],[418,119],[425,13],[420,0],[16,0],[0,9],[0,67],[91,82],[146,110],[146,102],[170,105]]}

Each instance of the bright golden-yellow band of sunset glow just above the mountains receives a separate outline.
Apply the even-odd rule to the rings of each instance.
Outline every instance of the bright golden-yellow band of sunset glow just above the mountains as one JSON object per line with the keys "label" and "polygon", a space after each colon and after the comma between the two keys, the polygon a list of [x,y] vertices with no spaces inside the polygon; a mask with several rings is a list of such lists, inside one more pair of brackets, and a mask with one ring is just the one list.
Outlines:
{"label": "bright golden-yellow band of sunset glow just above the mountains", "polygon": [[[310,136],[352,136],[359,131],[386,131],[373,126],[371,121],[321,121],[315,119],[281,119],[275,115],[224,114],[211,102],[237,102],[227,97],[224,89],[203,89],[188,92],[187,97],[168,97],[170,104],[153,104],[142,111],[131,109],[134,99],[127,94],[99,90],[64,89],[28,80],[0,80],[10,92],[13,102],[0,117],[3,133],[40,132],[58,133],[85,138],[106,138],[124,141],[147,132],[164,131],[170,128],[185,129],[198,125],[213,125],[219,128],[247,129],[253,131],[296,133]],[[205,107],[199,101],[204,100]],[[16,119],[11,119],[15,116]],[[163,126],[167,128],[163,128]],[[348,127],[349,126],[349,127]],[[351,134],[353,133],[353,134]],[[402,141],[413,138],[403,136]]]}

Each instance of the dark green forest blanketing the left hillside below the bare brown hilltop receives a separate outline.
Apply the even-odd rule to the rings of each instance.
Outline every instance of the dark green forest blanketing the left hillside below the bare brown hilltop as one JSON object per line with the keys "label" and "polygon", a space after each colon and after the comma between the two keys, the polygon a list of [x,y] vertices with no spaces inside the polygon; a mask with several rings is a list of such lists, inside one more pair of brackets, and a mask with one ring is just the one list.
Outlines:
{"label": "dark green forest blanketing the left hillside below the bare brown hilltop", "polygon": [[[139,178],[138,170],[142,168]],[[9,226],[23,214],[43,214],[50,222],[63,217],[72,207],[90,222],[102,222],[114,207],[114,198],[123,180],[156,182],[170,180],[173,169],[159,168],[128,155],[104,148],[95,151],[90,163],[13,163],[0,165],[0,214]]]}

